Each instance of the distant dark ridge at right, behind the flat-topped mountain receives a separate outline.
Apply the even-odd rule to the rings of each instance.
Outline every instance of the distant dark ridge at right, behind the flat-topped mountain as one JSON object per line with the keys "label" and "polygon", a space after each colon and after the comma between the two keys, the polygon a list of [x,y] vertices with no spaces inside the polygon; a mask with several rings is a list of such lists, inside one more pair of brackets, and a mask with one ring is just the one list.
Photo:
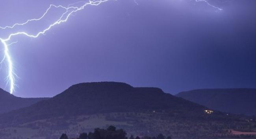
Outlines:
{"label": "distant dark ridge at right, behind the flat-topped mountain", "polygon": [[256,89],[200,89],[176,96],[221,112],[256,115]]}

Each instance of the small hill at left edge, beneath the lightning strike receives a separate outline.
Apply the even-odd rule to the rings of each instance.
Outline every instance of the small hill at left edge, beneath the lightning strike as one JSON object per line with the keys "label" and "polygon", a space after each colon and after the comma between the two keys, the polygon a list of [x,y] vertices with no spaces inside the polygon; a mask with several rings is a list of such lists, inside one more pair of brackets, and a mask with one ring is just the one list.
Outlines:
{"label": "small hill at left edge, beneath the lightning strike", "polygon": [[16,97],[0,88],[0,114],[30,106],[48,98],[21,98]]}

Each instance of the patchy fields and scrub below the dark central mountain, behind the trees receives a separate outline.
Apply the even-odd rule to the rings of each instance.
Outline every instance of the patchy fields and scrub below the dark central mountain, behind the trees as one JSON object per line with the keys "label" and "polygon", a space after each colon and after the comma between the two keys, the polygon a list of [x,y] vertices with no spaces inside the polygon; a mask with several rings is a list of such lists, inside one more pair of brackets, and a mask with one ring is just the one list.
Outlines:
{"label": "patchy fields and scrub below the dark central mountain, behind the trees", "polygon": [[62,133],[66,133],[69,137],[78,137],[82,132],[91,132],[94,128],[106,128],[109,125],[123,128],[128,136],[131,134],[153,136],[163,133],[171,135],[173,139],[231,139],[230,137],[238,138],[236,135],[242,139],[243,136],[232,129],[236,127],[252,129],[255,123],[246,120],[224,123],[219,119],[209,122],[204,119],[188,119],[155,112],[108,113],[64,116],[8,127],[0,130],[0,139],[58,139]]}

